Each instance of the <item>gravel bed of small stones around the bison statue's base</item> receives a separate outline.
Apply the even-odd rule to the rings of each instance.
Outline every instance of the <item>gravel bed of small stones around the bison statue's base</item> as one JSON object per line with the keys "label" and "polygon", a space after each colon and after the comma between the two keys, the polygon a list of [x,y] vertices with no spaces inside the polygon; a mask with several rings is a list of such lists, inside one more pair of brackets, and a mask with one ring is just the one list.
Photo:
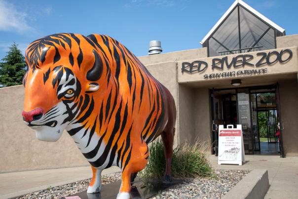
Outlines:
{"label": "gravel bed of small stones around the bison statue's base", "polygon": [[[249,171],[247,170],[215,170],[218,178],[189,178],[182,184],[159,193],[151,199],[220,199],[234,187]],[[120,173],[112,173],[102,177],[102,184],[108,184],[121,179]],[[86,191],[90,179],[71,184],[49,187],[46,190],[34,192],[17,199],[61,199],[77,192]]]}

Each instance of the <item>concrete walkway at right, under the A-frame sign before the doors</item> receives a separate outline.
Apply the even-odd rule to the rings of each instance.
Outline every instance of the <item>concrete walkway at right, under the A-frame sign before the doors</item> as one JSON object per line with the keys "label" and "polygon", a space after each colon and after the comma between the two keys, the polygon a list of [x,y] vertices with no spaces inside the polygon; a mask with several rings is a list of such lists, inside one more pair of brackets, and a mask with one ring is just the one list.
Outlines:
{"label": "concrete walkway at right, under the A-frame sign before the doors", "polygon": [[267,169],[269,190],[265,199],[298,199],[298,157],[245,156],[246,163],[218,165],[217,157],[210,156],[212,167],[220,169]]}

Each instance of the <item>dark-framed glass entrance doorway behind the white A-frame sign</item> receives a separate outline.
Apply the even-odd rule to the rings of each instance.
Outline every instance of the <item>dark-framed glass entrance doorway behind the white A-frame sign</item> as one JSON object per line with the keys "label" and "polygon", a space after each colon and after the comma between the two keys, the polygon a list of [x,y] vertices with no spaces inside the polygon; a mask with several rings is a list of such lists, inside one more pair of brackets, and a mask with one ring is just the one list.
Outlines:
{"label": "dark-framed glass entrance doorway behind the white A-frame sign", "polygon": [[214,149],[217,149],[219,125],[241,124],[245,154],[279,154],[274,85],[213,90],[211,100]]}

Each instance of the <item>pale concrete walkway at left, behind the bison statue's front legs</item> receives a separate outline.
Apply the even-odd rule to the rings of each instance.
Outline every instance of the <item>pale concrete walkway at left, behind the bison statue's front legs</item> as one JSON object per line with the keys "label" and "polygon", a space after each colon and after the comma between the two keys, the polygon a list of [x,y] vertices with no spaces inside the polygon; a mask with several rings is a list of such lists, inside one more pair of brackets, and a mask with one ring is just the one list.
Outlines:
{"label": "pale concrete walkway at left, behind the bison statue's front legs", "polygon": [[[113,166],[104,169],[102,174],[119,171],[118,167]],[[91,177],[90,166],[0,173],[0,199],[13,198]]]}

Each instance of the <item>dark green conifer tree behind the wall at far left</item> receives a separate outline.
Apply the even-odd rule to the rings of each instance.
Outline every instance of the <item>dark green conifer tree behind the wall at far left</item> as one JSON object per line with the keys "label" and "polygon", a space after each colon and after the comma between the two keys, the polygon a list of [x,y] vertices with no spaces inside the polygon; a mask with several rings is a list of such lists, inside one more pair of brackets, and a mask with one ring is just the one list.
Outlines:
{"label": "dark green conifer tree behind the wall at far left", "polygon": [[26,62],[18,44],[13,42],[0,63],[0,87],[22,84],[26,73]]}

